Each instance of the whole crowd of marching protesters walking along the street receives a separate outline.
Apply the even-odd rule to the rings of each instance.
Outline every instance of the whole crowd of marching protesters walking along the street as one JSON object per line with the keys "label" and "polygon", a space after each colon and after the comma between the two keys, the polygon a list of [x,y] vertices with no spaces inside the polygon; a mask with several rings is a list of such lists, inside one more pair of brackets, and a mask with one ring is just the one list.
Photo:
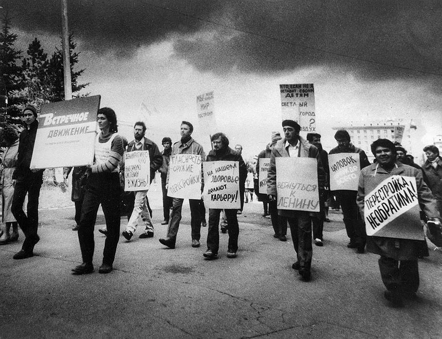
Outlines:
{"label": "whole crowd of marching protesters walking along the street", "polygon": [[[18,136],[17,129],[5,126],[2,131],[3,144],[6,146],[1,158],[2,187],[2,235],[0,244],[16,242],[18,226],[24,233],[22,248],[14,255],[14,259],[29,258],[34,255],[34,246],[40,240],[37,234],[38,198],[42,185],[43,170],[30,169],[33,155],[35,135],[38,128],[37,110],[27,106],[23,110],[22,120],[25,129]],[[242,147],[229,147],[229,139],[223,133],[211,136],[212,149],[205,154],[203,146],[192,138],[193,126],[183,121],[180,126],[181,139],[172,145],[169,137],[162,140],[164,150],[145,137],[146,125],[138,121],[134,124],[134,140],[127,140],[118,133],[117,116],[110,108],[101,108],[97,114],[100,132],[95,141],[95,157],[92,165],[65,168],[64,176],[72,171],[72,201],[75,203],[74,230],[78,230],[78,240],[83,263],[72,269],[72,274],[87,274],[94,271],[94,226],[99,206],[102,206],[106,227],[99,231],[106,235],[100,273],[113,270],[120,235],[121,205],[126,205],[128,222],[122,236],[130,241],[138,226],[144,227],[139,238],[151,238],[154,234],[151,221],[152,210],[149,206],[147,191],[124,192],[124,152],[137,150],[149,151],[150,180],[155,172],[161,175],[163,194],[164,220],[161,225],[168,225],[164,238],[159,242],[169,248],[175,248],[180,226],[184,199],[171,198],[167,195],[170,171],[170,157],[176,154],[193,154],[202,161],[238,161],[239,191],[241,208],[209,209],[208,223],[205,218],[204,200],[189,199],[191,215],[191,246],[199,247],[201,227],[208,224],[207,249],[204,258],[215,259],[219,255],[221,232],[228,232],[228,248],[226,256],[236,258],[238,252],[238,217],[244,203],[253,199],[253,192],[262,201],[264,215],[271,216],[274,237],[286,241],[287,225],[297,260],[292,268],[297,270],[302,280],[311,278],[312,242],[323,246],[323,225],[327,218],[330,199],[335,197],[340,204],[343,222],[349,238],[347,247],[355,248],[358,253],[365,250],[378,254],[379,269],[385,284],[385,298],[392,303],[400,303],[404,297],[412,297],[418,289],[419,273],[418,258],[428,256],[428,249],[422,233],[422,239],[410,240],[382,236],[367,236],[364,224],[364,197],[391,176],[413,177],[416,181],[417,196],[421,209],[421,218],[428,225],[441,230],[442,215],[442,158],[435,145],[424,148],[427,160],[421,168],[407,155],[401,145],[395,145],[388,139],[375,140],[371,145],[374,163],[370,163],[365,152],[355,147],[346,130],[338,130],[335,134],[337,146],[328,154],[358,153],[361,169],[357,191],[330,191],[330,173],[328,154],[321,145],[321,135],[308,133],[306,139],[299,135],[300,126],[293,120],[282,122],[283,137],[273,133],[271,142],[257,156],[256,167],[246,164],[241,156]],[[304,210],[278,209],[276,158],[301,157],[313,158],[317,163],[317,182],[319,189],[319,212]],[[267,194],[259,193],[259,161],[270,159],[267,175]],[[293,168],[294,171],[298,169]],[[203,193],[204,182],[201,192]],[[28,195],[27,213],[23,211],[25,197]],[[123,202],[123,203],[122,203]],[[407,227],[407,225],[404,225]],[[12,232],[11,232],[12,229]],[[433,228],[434,229],[434,228]],[[430,230],[431,231],[431,230]],[[434,231],[433,231],[434,232]],[[432,233],[431,239],[439,234]]]}

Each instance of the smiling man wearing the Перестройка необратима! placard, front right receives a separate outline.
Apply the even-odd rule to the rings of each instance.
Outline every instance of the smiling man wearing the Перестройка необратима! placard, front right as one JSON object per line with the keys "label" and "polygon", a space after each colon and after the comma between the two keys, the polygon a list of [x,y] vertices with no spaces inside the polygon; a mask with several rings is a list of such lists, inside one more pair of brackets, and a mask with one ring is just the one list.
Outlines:
{"label": "smiling man wearing the \u041f\u0435\u0440\u0435\u0441\u0442\u0440\u043e\u0439\u043a\u0430 \u043d\u0435\u043e\u0431\u0440\u0430\u0442\u0438\u043c\u0430! placard, front right", "polygon": [[[396,161],[396,149],[388,139],[378,139],[371,145],[376,163],[362,169],[359,175],[357,204],[364,215],[365,196],[391,176],[413,177],[416,180],[417,197],[426,217],[440,226],[436,201],[425,184],[422,171]],[[408,225],[404,225],[404,228]],[[424,233],[422,240],[370,236],[367,251],[378,254],[379,271],[387,288],[384,297],[393,305],[400,305],[404,297],[413,297],[419,287],[417,259],[428,257]]]}

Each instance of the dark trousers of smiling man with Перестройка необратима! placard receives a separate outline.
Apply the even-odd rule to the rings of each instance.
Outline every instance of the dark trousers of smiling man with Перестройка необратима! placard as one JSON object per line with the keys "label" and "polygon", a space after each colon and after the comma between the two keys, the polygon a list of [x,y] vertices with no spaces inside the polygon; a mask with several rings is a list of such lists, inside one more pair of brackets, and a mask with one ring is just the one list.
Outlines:
{"label": "dark trousers of smiling man with \u041f\u0435\u0440\u0435\u0441\u0442\u0440\u043e\u0439\u043a\u0430 \u043d\u0435\u043e\u0431\u0440\u0430\u0442\u0438\u043c\u0430! placard", "polygon": [[395,260],[380,257],[378,260],[382,282],[389,291],[414,294],[419,287],[417,260]]}

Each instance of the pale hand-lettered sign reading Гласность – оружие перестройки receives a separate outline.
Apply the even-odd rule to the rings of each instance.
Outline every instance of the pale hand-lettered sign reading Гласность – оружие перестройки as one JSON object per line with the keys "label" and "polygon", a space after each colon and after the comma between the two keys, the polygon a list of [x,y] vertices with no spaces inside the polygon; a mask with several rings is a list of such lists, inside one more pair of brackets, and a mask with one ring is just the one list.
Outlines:
{"label": "pale hand-lettered sign reading \u0413\u043b\u0430\u0441\u043d\u043e\u0441\u0442\u044c \u2013 \u043e\u0440\u0443\u0436\u0438\u0435 \u043f\u0435\u0440\u0435\u0441\u0442\u0440\u043e\u0439\u043a\u0438", "polygon": [[175,154],[170,157],[167,195],[173,198],[201,199],[199,154]]}

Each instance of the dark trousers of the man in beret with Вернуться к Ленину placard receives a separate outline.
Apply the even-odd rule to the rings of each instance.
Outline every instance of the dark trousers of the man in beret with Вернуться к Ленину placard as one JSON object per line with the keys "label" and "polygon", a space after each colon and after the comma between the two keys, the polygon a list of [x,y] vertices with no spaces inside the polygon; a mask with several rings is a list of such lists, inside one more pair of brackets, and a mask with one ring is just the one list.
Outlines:
{"label": "dark trousers of the man in beret with \u0412\u0435\u0440\u043d\u0443\u0442\u044c\u0441\u044f \u043a \u041b\u0435\u043d\u0438\u043d\u0443 placard", "polygon": [[299,261],[300,271],[310,271],[313,248],[311,245],[311,221],[306,211],[293,211],[295,217],[288,217],[291,240]]}

